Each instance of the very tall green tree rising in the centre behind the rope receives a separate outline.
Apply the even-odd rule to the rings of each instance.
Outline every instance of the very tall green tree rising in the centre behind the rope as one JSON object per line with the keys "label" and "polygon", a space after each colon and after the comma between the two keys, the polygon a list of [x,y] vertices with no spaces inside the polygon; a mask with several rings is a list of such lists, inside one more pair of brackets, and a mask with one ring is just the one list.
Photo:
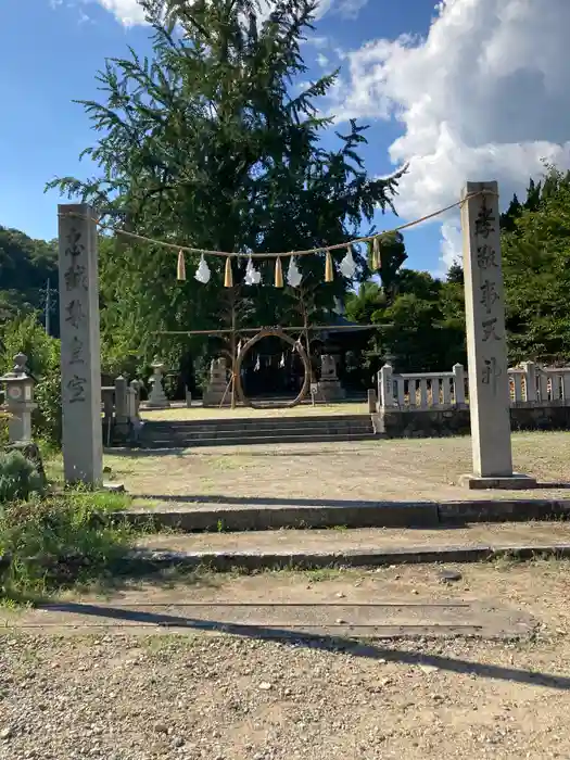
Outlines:
{"label": "very tall green tree rising in the centre behind the rope", "polygon": [[[365,127],[354,121],[337,132],[338,148],[320,143],[331,119],[319,115],[317,99],[335,74],[301,85],[301,42],[315,0],[276,0],[268,16],[256,0],[141,4],[152,56],[130,49],[128,58],[106,61],[99,74],[104,101],[79,101],[100,134],[85,151],[99,173],[51,186],[94,204],[112,226],[192,248],[291,251],[347,241],[363,223],[372,231],[375,211],[392,207],[397,176],[368,177],[358,153]],[[223,259],[208,259],[213,276],[202,286],[192,277],[198,257],[188,257],[190,277],[177,284],[176,251],[125,237],[119,243],[103,246],[101,256],[104,343],[128,352],[142,338],[147,358],[167,347],[174,356],[180,343],[161,342],[153,330],[219,324]],[[365,273],[366,253],[354,256]],[[299,265],[307,278],[322,279],[322,258]],[[273,266],[262,267],[266,283]],[[233,262],[236,281],[243,267]],[[347,286],[338,276],[318,290],[317,305],[330,306]],[[287,318],[287,293],[253,287],[246,297],[252,320]]]}

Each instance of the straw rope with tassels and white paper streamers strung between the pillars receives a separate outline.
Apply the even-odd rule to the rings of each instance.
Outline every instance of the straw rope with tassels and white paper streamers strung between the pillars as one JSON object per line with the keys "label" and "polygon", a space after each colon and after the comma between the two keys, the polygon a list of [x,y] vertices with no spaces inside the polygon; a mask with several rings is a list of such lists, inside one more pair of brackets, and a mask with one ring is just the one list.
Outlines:
{"label": "straw rope with tassels and white paper streamers strung between the pillars", "polygon": [[[332,251],[339,251],[341,249],[346,248],[346,254],[344,258],[342,259],[340,264],[340,271],[343,275],[343,277],[346,277],[351,279],[354,277],[356,274],[356,264],[353,258],[352,254],[352,246],[353,245],[358,245],[360,243],[372,243],[372,255],[371,255],[371,268],[373,271],[377,271],[378,269],[381,268],[382,266],[382,261],[381,261],[381,255],[380,255],[380,245],[381,245],[381,237],[383,235],[388,233],[394,233],[394,232],[400,232],[404,229],[409,229],[410,227],[416,227],[417,225],[422,224],[423,221],[429,221],[430,219],[433,219],[438,216],[441,216],[442,214],[445,214],[448,211],[452,211],[453,208],[457,208],[463,206],[467,201],[471,200],[472,198],[477,198],[478,195],[495,195],[492,190],[479,190],[477,192],[472,192],[467,194],[463,200],[456,201],[455,203],[449,204],[448,206],[445,206],[444,208],[440,208],[439,211],[435,211],[431,214],[426,214],[426,216],[420,217],[419,219],[414,219],[413,221],[407,221],[404,225],[400,225],[398,227],[394,227],[392,230],[384,230],[382,232],[376,232],[375,235],[369,235],[364,238],[355,238],[354,240],[350,240],[349,242],[344,243],[335,243],[334,245],[326,245],[326,246],[319,246],[319,248],[314,248],[314,249],[307,249],[306,251],[289,251],[289,252],[281,252],[281,253],[231,253],[227,251],[210,251],[206,249],[199,249],[199,248],[191,248],[188,245],[179,245],[177,243],[170,243],[165,240],[155,240],[154,238],[149,238],[144,235],[138,235],[136,232],[130,232],[129,230],[126,229],[121,229],[117,227],[114,227],[113,225],[105,224],[101,221],[101,219],[93,218],[92,220],[99,226],[100,229],[102,230],[107,230],[110,232],[113,232],[113,235],[123,236],[126,238],[130,238],[131,240],[139,240],[144,243],[151,243],[152,245],[161,245],[162,248],[167,248],[167,249],[173,249],[178,252],[178,259],[177,259],[177,267],[176,267],[176,278],[178,281],[183,282],[186,280],[186,263],[185,263],[185,253],[190,253],[190,254],[200,254],[200,263],[198,265],[198,268],[194,274],[194,278],[199,281],[202,282],[203,284],[206,284],[210,282],[212,278],[212,271],[207,265],[206,262],[206,256],[218,256],[223,257],[226,259],[226,266],[225,266],[225,273],[224,273],[224,286],[226,288],[232,288],[233,287],[233,274],[232,274],[232,267],[231,267],[231,259],[232,258],[248,258],[248,268],[245,270],[245,283],[246,284],[258,284],[261,282],[261,275],[255,270],[255,267],[253,266],[253,259],[254,258],[262,258],[262,259],[271,259],[275,258],[275,287],[276,288],[282,288],[283,287],[283,274],[282,274],[282,267],[281,267],[281,257],[289,257],[289,270],[287,275],[287,281],[288,284],[290,284],[292,288],[297,288],[301,284],[302,281],[302,274],[299,270],[299,267],[296,265],[295,258],[299,256],[311,256],[315,254],[326,254],[326,259],[325,259],[325,282],[332,282],[334,279],[334,263],[332,261],[331,252]],[[83,218],[85,219],[86,217],[83,214],[77,214],[75,212],[64,212],[60,213],[60,216],[74,216],[77,218]]]}

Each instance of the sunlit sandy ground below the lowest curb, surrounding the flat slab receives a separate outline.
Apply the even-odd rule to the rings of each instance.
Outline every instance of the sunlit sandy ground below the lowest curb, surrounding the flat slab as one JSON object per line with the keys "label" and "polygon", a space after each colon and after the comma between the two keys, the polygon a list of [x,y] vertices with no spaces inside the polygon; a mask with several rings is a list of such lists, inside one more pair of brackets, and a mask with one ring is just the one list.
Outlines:
{"label": "sunlit sandy ground below the lowest curb, surrounding the flat slab", "polygon": [[[110,628],[87,635],[65,617],[55,628],[8,626],[0,642],[0,758],[570,757],[570,566],[449,569],[460,579],[443,583],[436,566],[193,575],[130,585],[110,601],[170,611],[199,600],[306,603],[311,615],[331,603],[477,600],[532,615],[534,634],[354,644],[263,641],[255,630],[149,635],[149,628]],[[29,616],[47,621],[49,613],[11,612],[7,623]]]}

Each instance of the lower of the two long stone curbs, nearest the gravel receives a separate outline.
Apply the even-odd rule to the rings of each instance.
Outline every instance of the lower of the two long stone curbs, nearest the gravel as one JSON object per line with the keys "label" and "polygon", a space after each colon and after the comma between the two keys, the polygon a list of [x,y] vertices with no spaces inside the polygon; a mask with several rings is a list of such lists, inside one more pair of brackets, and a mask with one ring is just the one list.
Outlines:
{"label": "lower of the two long stone curbs, nearest the gravel", "polygon": [[217,571],[242,570],[317,570],[322,568],[364,568],[390,565],[419,565],[427,562],[480,562],[509,557],[512,559],[569,558],[570,544],[536,546],[441,546],[334,552],[169,552],[135,549],[124,560],[127,565],[149,570],[172,567],[186,569],[207,568]]}

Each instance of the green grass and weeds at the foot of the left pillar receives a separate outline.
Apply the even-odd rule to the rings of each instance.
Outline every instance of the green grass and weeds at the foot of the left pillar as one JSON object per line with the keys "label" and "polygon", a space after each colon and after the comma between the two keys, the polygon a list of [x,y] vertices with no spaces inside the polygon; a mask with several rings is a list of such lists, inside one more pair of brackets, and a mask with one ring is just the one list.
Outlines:
{"label": "green grass and weeds at the foot of the left pillar", "polygon": [[132,537],[126,524],[102,520],[101,509],[86,494],[12,503],[0,516],[0,557],[9,559],[0,596],[42,594],[109,578]]}

